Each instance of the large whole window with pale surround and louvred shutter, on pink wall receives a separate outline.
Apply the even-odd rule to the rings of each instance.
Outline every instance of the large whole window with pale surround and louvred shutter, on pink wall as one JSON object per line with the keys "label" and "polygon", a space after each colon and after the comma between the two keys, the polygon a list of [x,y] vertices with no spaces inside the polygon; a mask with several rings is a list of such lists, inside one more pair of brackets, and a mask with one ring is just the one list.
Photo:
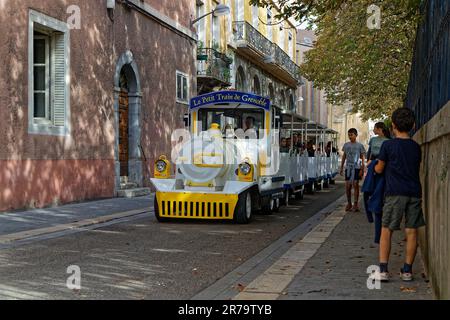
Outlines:
{"label": "large whole window with pale surround and louvred shutter, on pink wall", "polygon": [[68,135],[69,29],[31,10],[29,36],[29,132]]}

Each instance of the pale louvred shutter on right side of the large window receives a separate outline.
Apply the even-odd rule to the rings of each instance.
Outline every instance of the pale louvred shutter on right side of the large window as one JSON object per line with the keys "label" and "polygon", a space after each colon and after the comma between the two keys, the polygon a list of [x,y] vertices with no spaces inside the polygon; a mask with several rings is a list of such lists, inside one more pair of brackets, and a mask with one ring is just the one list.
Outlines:
{"label": "pale louvred shutter on right side of the large window", "polygon": [[54,36],[53,50],[53,124],[66,123],[66,55],[64,34]]}

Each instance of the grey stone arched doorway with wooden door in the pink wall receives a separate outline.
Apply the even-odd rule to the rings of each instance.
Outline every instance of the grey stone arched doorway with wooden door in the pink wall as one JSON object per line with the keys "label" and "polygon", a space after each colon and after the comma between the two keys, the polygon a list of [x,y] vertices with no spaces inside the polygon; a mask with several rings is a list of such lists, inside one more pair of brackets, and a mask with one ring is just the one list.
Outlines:
{"label": "grey stone arched doorway with wooden door in the pink wall", "polygon": [[115,171],[116,191],[120,183],[142,187],[141,155],[141,83],[133,53],[119,58],[114,76],[114,111],[116,122]]}

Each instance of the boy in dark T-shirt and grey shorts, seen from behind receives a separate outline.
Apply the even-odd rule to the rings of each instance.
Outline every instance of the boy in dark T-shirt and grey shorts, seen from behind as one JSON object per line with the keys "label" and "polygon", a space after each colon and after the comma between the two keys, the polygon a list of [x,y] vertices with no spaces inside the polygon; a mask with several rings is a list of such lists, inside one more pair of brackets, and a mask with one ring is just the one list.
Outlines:
{"label": "boy in dark T-shirt and grey shorts, seen from behind", "polygon": [[385,172],[386,177],[379,280],[389,280],[391,236],[394,230],[400,230],[400,223],[405,216],[406,261],[400,276],[404,281],[411,281],[412,264],[417,251],[417,229],[425,226],[419,177],[422,155],[420,146],[409,136],[415,125],[414,113],[410,109],[400,108],[393,113],[392,123],[396,138],[383,143],[375,167],[377,173]]}

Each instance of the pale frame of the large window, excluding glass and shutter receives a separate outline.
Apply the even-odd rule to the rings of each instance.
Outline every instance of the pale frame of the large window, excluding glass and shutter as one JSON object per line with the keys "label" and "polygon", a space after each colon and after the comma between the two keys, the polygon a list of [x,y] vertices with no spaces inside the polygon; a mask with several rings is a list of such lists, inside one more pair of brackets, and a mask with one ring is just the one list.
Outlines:
{"label": "pale frame of the large window, excluding glass and shutter", "polygon": [[[34,117],[34,40],[41,36],[35,31],[48,34],[48,68],[46,70],[46,118]],[[52,88],[54,85],[54,34],[60,33],[64,37],[65,56],[65,89],[64,89],[64,126],[57,126],[53,121],[54,105]],[[45,35],[42,37],[46,37]],[[70,136],[70,28],[66,22],[59,21],[38,11],[29,10],[28,15],[28,133],[49,136]]]}

